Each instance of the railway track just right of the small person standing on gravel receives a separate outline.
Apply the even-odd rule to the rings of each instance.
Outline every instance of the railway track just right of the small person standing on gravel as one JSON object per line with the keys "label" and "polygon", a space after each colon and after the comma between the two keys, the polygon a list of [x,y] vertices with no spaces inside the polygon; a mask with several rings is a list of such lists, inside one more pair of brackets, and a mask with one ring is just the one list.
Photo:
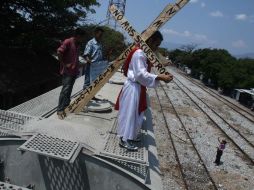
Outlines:
{"label": "railway track just right of the small person standing on gravel", "polygon": [[216,113],[206,102],[199,98],[190,88],[184,85],[177,77],[174,83],[185,95],[217,126],[218,129],[254,164],[254,146],[238,130],[232,127],[225,119]]}

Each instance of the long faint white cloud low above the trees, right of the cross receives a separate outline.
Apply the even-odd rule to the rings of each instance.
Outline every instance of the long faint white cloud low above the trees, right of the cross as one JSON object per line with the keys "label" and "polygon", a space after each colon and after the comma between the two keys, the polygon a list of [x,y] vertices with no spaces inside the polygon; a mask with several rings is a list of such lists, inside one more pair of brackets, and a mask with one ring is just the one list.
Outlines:
{"label": "long faint white cloud low above the trees, right of the cross", "polygon": [[210,40],[205,34],[198,34],[198,33],[193,34],[188,30],[185,30],[183,32],[178,32],[178,31],[175,31],[173,29],[163,29],[162,33],[166,34],[166,35],[168,34],[168,35],[187,38],[187,39],[193,41],[194,43],[198,43],[198,44],[212,45],[212,44],[216,43],[216,41]]}

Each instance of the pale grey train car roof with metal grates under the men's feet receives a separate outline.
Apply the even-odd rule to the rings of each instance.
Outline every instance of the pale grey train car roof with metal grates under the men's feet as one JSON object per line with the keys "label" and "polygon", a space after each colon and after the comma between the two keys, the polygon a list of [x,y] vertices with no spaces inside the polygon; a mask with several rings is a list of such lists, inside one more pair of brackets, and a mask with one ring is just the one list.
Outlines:
{"label": "pale grey train car roof with metal grates under the men's feet", "polygon": [[[106,107],[109,105],[113,106],[122,88],[122,85],[119,84],[122,84],[124,80],[123,75],[117,72],[111,78],[110,83],[107,83],[97,93],[96,97],[107,100],[104,102],[107,104],[105,105]],[[76,80],[72,95],[75,96],[75,94],[80,92],[83,81],[83,77]],[[45,144],[45,138],[53,138],[54,141],[52,142],[54,143],[57,143],[57,139],[63,139],[66,142],[76,143],[71,148],[73,152],[70,151],[72,154],[64,155],[65,157],[59,155],[55,158],[73,161],[75,159],[75,151],[80,150],[78,147],[83,147],[92,152],[95,157],[99,156],[101,159],[105,159],[105,161],[125,171],[138,181],[146,183],[147,187],[156,190],[162,189],[150,109],[146,111],[142,142],[139,144],[138,152],[126,152],[118,145],[118,137],[116,135],[117,112],[114,109],[111,112],[90,112],[88,111],[89,109],[84,109],[79,114],[70,114],[64,120],[59,120],[54,112],[60,90],[61,87],[56,88],[9,110],[16,115],[20,113],[37,118],[27,122],[22,130],[16,132],[16,135],[20,134],[21,136],[33,135],[33,138],[20,147],[22,150],[36,152],[28,144],[34,144],[34,142],[39,142],[40,140],[44,140],[43,144]],[[52,115],[52,113],[54,114]],[[45,116],[50,117],[45,118]],[[54,143],[49,146],[54,146]],[[43,151],[36,153],[52,156],[47,155]],[[135,169],[133,170],[133,168]]]}

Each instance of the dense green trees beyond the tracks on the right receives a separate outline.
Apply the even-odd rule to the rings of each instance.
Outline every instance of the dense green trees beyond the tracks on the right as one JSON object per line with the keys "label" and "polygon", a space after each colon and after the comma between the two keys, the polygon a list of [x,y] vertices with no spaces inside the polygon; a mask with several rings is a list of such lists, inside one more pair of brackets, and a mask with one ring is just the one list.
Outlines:
{"label": "dense green trees beyond the tracks on the right", "polygon": [[187,65],[192,70],[192,75],[204,75],[204,81],[212,80],[214,87],[221,87],[230,93],[235,88],[254,87],[254,60],[239,59],[230,55],[224,49],[197,49],[191,46],[169,52],[169,57],[174,63]]}

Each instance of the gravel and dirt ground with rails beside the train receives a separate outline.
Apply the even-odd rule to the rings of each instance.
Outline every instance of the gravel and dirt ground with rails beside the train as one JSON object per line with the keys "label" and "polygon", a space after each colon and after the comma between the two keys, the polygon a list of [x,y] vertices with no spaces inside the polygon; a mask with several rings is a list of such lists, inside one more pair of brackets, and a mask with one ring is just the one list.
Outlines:
{"label": "gravel and dirt ground with rails beside the train", "polygon": [[[224,105],[220,100],[205,93],[195,84],[190,84],[190,81],[180,76],[175,70],[172,70],[172,73],[183,84],[188,85],[194,94],[209,104],[211,109],[219,112],[220,116],[229,124],[240,128],[250,142],[254,141],[254,124],[252,122]],[[220,129],[220,127],[227,128],[227,126],[223,126],[225,124],[222,122],[213,121],[211,119],[213,117],[208,117],[208,113],[200,109],[194,100],[179,88],[177,83],[163,84],[163,88],[167,96],[165,92],[162,92],[161,87],[157,88],[162,109],[155,90],[150,89],[148,94],[153,113],[164,189],[186,189],[187,185],[188,189],[254,190],[253,160],[251,161],[252,158],[248,158],[240,150],[243,147],[244,151],[247,150],[247,155],[251,156],[252,146],[248,149],[244,149],[244,144],[236,146],[235,142],[244,140],[237,141],[231,138],[232,136],[227,136]],[[172,105],[167,101],[167,98],[171,100]],[[176,117],[173,107],[179,118]],[[181,127],[179,119],[186,131]],[[230,131],[225,130],[225,132],[229,133]],[[216,166],[213,162],[216,156],[218,137],[226,139],[228,144],[222,155],[222,164]],[[197,152],[194,149],[197,150],[201,160],[197,157]],[[207,171],[204,168],[207,168]]]}

